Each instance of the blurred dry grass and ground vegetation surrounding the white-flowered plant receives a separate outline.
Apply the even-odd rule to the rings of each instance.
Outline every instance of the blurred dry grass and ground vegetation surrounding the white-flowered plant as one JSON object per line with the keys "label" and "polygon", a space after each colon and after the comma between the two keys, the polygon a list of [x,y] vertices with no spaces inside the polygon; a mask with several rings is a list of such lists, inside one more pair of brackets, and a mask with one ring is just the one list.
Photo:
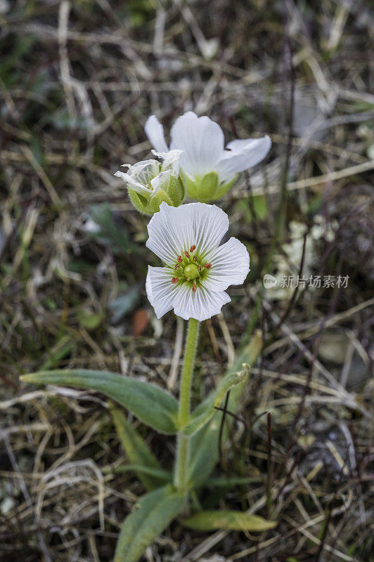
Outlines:
{"label": "blurred dry grass and ground vegetation surrounding the white-flowered plant", "polygon": [[[176,392],[183,322],[153,315],[148,219],[113,174],[150,155],[151,113],[168,129],[190,109],[227,141],[273,141],[219,202],[252,266],[202,326],[194,396],[262,331],[216,474],[250,483],[200,502],[278,526],[175,522],[144,560],[374,560],[373,23],[360,0],[0,1],[2,562],[110,561],[144,492],[98,393],[18,377],[87,367]],[[264,273],[349,282],[264,289]],[[169,469],[174,440],[134,424]]]}

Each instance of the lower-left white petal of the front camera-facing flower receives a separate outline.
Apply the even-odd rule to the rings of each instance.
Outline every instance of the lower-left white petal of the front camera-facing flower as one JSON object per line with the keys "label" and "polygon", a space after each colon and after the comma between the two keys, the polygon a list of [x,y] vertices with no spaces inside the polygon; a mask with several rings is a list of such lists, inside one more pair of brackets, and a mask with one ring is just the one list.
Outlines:
{"label": "lower-left white petal of the front camera-facing flower", "polygon": [[168,268],[148,266],[146,291],[157,318],[161,318],[173,308],[176,285],[172,284],[172,277],[173,275]]}

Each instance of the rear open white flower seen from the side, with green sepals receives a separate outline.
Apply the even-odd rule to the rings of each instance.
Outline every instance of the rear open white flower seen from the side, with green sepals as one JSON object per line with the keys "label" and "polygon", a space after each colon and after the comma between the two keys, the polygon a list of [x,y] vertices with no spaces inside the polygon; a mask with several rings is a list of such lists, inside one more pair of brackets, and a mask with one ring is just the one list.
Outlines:
{"label": "rear open white flower seen from the side, with green sepals", "polygon": [[[155,115],[144,127],[150,143],[158,152],[167,152],[164,129]],[[187,192],[199,201],[225,195],[240,171],[264,159],[271,147],[269,136],[231,141],[224,148],[224,132],[209,117],[192,111],[178,117],[170,131],[171,150],[183,150],[181,169],[186,176]]]}

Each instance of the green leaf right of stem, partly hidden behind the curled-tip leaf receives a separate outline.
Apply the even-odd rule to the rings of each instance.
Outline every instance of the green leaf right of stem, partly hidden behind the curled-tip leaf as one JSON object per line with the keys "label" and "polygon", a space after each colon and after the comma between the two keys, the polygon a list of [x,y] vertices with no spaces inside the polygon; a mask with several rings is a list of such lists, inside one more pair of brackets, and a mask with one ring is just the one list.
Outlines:
{"label": "green leaf right of stem, partly hidden behind the curled-tip leaf", "polygon": [[[240,369],[243,362],[254,365],[260,351],[262,349],[262,334],[255,332],[250,343],[245,346],[243,351],[239,353],[233,367],[229,372],[235,372]],[[228,401],[228,410],[234,414],[238,411],[240,401],[245,391],[245,381],[233,386],[230,392],[230,400]],[[217,412],[217,416],[209,421],[209,424],[202,427],[198,433],[191,438],[191,462],[189,465],[189,478],[191,483],[202,483],[212,472],[218,460],[218,439],[219,428],[223,414]],[[229,417],[226,417],[231,421]],[[227,431],[223,432],[223,439],[226,438]]]}

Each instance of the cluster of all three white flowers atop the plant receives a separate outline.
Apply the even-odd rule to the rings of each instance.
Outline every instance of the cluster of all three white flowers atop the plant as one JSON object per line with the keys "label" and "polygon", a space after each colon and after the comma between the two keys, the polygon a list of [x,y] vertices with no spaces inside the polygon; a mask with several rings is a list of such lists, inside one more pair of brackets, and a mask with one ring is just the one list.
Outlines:
{"label": "cluster of all three white flowers atop the plant", "polygon": [[[219,245],[228,230],[228,216],[205,201],[224,195],[239,172],[261,162],[271,141],[269,136],[247,138],[231,141],[225,149],[221,127],[193,112],[176,119],[169,147],[155,115],[148,118],[145,130],[163,163],[138,162],[128,166],[126,174],[116,175],[127,183],[135,207],[153,214],[146,245],[165,266],[148,266],[148,299],[157,318],[174,308],[185,320],[206,320],[231,300],[225,289],[244,282],[250,256],[236,238]],[[184,188],[200,202],[179,207]]]}

